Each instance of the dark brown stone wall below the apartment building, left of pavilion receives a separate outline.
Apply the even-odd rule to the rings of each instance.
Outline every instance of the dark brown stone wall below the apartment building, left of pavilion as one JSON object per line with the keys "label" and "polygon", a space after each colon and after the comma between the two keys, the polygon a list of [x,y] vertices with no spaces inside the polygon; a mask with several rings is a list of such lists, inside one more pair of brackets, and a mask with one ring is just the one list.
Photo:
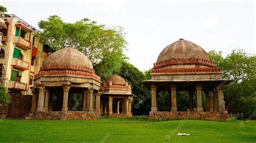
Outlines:
{"label": "dark brown stone wall below the apartment building, left of pavilion", "polygon": [[30,111],[32,96],[10,94],[10,104],[0,104],[0,118],[23,118]]}

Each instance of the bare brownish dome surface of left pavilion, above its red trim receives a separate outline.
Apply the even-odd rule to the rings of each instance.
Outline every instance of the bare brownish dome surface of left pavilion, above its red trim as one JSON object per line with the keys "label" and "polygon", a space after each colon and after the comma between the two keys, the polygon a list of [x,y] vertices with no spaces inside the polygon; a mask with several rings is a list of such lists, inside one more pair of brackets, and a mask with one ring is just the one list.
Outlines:
{"label": "bare brownish dome surface of left pavilion, above its red trim", "polygon": [[92,63],[86,55],[72,47],[66,47],[52,53],[44,62],[45,65],[72,65],[93,69]]}

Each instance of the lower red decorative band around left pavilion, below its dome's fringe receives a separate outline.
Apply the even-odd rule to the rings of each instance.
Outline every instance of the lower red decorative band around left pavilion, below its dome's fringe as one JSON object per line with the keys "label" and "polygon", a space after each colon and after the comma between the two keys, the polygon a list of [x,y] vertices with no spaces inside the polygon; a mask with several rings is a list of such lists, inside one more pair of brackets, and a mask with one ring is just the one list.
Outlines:
{"label": "lower red decorative band around left pavilion, below its dome's fringe", "polygon": [[35,77],[42,76],[42,75],[76,75],[76,76],[85,76],[85,77],[93,77],[96,80],[100,81],[100,77],[93,73],[88,73],[85,71],[75,71],[75,70],[43,70],[39,71],[35,75]]}

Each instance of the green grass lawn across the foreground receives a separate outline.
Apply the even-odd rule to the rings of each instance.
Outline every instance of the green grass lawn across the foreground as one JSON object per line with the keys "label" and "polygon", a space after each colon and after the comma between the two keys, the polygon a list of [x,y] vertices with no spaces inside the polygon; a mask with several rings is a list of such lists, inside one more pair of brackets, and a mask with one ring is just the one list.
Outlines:
{"label": "green grass lawn across the foreground", "polygon": [[[244,123],[244,124],[242,124]],[[178,136],[178,132],[190,133]],[[0,120],[0,142],[255,142],[256,120]]]}

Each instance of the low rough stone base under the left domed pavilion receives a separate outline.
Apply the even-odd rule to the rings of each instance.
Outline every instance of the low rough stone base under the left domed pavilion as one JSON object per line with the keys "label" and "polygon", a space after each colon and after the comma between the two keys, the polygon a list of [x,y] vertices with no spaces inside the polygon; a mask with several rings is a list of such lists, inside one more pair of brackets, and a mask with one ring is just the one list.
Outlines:
{"label": "low rough stone base under the left domed pavilion", "polygon": [[27,113],[26,119],[97,119],[100,117],[100,112],[86,111],[50,111],[50,112],[33,112]]}

